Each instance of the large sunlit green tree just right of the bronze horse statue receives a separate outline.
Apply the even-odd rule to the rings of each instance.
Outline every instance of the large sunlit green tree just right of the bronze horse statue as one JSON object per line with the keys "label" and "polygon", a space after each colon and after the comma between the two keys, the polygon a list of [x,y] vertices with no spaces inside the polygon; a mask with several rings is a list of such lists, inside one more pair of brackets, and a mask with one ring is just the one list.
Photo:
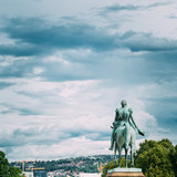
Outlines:
{"label": "large sunlit green tree just right of the bronze horse statue", "polygon": [[175,177],[170,158],[174,146],[170,140],[145,140],[139,145],[135,166],[142,168],[146,177]]}

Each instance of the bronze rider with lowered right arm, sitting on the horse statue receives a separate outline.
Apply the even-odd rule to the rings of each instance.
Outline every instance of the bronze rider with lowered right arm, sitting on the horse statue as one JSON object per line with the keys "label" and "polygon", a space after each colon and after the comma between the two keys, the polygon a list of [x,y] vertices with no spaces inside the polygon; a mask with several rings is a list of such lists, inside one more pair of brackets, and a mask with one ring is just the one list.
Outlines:
{"label": "bronze rider with lowered right arm, sitting on the horse statue", "polygon": [[[129,126],[134,129],[137,129],[137,132],[139,133],[139,135],[144,136],[144,132],[142,132],[137,125],[135,124],[134,117],[133,117],[133,110],[132,108],[127,108],[127,102],[125,100],[123,100],[121,102],[122,107],[118,110],[115,110],[115,119],[113,122],[113,132],[112,132],[112,136],[111,136],[111,147],[110,150],[113,150],[113,146],[114,146],[114,137],[115,137],[115,129],[118,126],[126,126],[126,124],[129,124]],[[132,121],[132,122],[131,122]]]}

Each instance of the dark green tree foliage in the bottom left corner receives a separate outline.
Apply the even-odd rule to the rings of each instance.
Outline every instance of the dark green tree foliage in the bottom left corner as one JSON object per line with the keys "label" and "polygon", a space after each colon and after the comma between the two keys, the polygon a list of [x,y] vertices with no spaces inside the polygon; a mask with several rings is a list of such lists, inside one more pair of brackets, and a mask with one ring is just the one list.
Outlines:
{"label": "dark green tree foliage in the bottom left corner", "polygon": [[0,177],[23,177],[20,168],[9,166],[3,152],[0,152]]}

